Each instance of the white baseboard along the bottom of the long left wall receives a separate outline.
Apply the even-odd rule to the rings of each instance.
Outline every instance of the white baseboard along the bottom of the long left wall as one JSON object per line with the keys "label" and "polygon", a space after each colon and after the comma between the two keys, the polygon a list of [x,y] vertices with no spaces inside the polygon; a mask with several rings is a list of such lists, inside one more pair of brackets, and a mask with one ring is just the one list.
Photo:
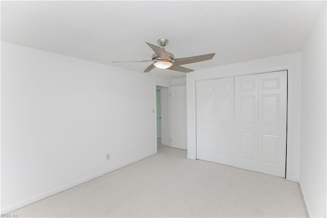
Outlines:
{"label": "white baseboard along the bottom of the long left wall", "polygon": [[103,171],[103,172],[96,173],[95,175],[92,175],[92,176],[90,176],[90,177],[84,178],[84,179],[82,179],[82,180],[79,180],[79,181],[73,182],[73,183],[71,183],[71,184],[64,185],[64,186],[62,186],[62,187],[59,187],[59,188],[56,188],[56,189],[54,189],[54,190],[48,191],[48,192],[46,192],[46,193],[43,193],[43,194],[37,195],[37,196],[35,196],[35,197],[32,197],[32,198],[30,198],[30,199],[27,199],[27,200],[21,201],[21,202],[19,202],[19,203],[17,203],[17,204],[14,204],[14,205],[11,205],[11,206],[8,206],[8,207],[5,207],[5,208],[2,208],[2,209],[1,209],[1,214],[9,213],[9,212],[11,212],[11,211],[13,211],[13,210],[17,210],[17,209],[19,209],[19,208],[21,208],[21,207],[24,207],[24,206],[27,206],[27,205],[32,204],[32,203],[34,203],[34,202],[37,202],[37,201],[40,201],[40,200],[42,200],[42,199],[48,198],[48,197],[50,197],[51,195],[54,195],[54,194],[59,193],[59,192],[61,192],[61,191],[67,190],[67,189],[69,189],[69,188],[73,188],[73,187],[75,187],[75,186],[77,186],[77,185],[80,185],[80,184],[82,184],[82,183],[88,182],[88,181],[90,181],[90,180],[92,180],[92,179],[96,179],[96,178],[98,178],[98,177],[101,177],[101,176],[103,176],[103,175],[109,173],[109,172],[112,172],[112,171],[114,171],[114,170],[117,170],[117,169],[120,169],[120,168],[122,168],[122,167],[128,166],[128,165],[130,165],[130,164],[132,164],[132,163],[135,163],[135,162],[137,162],[137,161],[141,161],[141,160],[143,160],[143,159],[145,159],[145,158],[148,158],[148,157],[151,157],[152,155],[155,155],[155,154],[157,154],[157,152],[153,152],[153,153],[151,153],[151,154],[149,154],[149,155],[146,155],[146,156],[143,156],[143,157],[141,157],[141,158],[137,158],[137,159],[135,159],[135,160],[132,160],[132,161],[126,162],[126,163],[124,163],[124,164],[122,164],[122,165],[119,165],[119,166],[113,167],[113,168],[108,169],[108,170],[105,170],[105,171]]}

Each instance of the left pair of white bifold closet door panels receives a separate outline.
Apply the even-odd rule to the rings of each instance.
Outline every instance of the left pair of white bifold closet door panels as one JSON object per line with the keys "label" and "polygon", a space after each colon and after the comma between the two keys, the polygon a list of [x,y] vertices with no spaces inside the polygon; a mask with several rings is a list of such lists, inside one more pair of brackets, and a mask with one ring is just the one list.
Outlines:
{"label": "left pair of white bifold closet door panels", "polygon": [[197,159],[233,166],[234,79],[197,81]]}

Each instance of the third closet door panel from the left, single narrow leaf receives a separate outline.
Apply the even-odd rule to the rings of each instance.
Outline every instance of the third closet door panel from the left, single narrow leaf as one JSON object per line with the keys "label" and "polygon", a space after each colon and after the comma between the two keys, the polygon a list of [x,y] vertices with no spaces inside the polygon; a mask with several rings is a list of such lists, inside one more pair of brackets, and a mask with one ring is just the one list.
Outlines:
{"label": "third closet door panel from the left, single narrow leaf", "polygon": [[258,74],[235,77],[234,166],[258,171]]}

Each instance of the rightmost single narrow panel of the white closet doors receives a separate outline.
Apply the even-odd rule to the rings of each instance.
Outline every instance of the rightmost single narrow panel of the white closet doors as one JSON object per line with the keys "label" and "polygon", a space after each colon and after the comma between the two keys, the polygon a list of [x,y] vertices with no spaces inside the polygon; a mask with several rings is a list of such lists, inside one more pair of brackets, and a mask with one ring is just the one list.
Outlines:
{"label": "rightmost single narrow panel of the white closet doors", "polygon": [[259,74],[258,171],[285,177],[287,71]]}

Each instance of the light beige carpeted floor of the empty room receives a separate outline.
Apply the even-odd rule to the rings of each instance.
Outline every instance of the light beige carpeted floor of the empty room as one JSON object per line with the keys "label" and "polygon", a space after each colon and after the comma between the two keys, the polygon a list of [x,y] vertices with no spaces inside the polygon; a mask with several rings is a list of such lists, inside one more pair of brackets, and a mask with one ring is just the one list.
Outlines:
{"label": "light beige carpeted floor of the empty room", "polygon": [[158,154],[11,212],[18,217],[308,217],[298,183]]}

